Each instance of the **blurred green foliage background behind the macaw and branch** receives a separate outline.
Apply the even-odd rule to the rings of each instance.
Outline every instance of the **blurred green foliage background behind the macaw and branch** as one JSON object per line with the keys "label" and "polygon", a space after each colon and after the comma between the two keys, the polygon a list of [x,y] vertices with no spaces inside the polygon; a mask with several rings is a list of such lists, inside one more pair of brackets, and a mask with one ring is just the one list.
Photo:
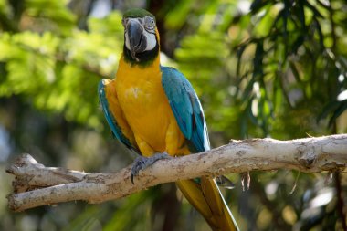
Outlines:
{"label": "blurred green foliage background behind the macaw and branch", "polygon": [[[347,132],[342,0],[0,0],[1,230],[208,229],[174,184],[102,205],[6,209],[5,164],[21,152],[85,171],[131,163],[134,154],[111,137],[96,89],[117,71],[121,12],[133,6],[157,17],[163,65],[195,86],[214,146]],[[237,186],[224,193],[242,230],[342,229],[330,174],[251,173],[245,192],[242,177],[230,178]],[[343,190],[346,182],[342,173]]]}

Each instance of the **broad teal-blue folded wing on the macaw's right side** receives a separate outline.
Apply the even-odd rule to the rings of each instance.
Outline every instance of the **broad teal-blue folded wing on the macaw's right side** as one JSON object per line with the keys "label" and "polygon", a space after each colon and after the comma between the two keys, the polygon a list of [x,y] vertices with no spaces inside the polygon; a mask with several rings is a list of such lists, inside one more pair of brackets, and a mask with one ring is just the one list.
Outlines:
{"label": "broad teal-blue folded wing on the macaw's right side", "polygon": [[190,82],[174,68],[162,68],[162,84],[177,124],[196,152],[210,149],[204,111]]}

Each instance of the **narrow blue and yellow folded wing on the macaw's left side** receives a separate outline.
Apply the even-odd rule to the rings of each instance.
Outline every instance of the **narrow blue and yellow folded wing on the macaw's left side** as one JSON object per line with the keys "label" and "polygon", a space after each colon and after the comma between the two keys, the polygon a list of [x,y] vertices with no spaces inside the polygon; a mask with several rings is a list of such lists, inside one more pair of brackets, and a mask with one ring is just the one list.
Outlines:
{"label": "narrow blue and yellow folded wing on the macaw's left side", "polygon": [[113,135],[121,143],[123,143],[127,148],[141,154],[139,148],[136,145],[135,139],[133,137],[133,133],[128,123],[125,121],[123,115],[121,114],[121,108],[119,108],[118,105],[116,104],[118,103],[118,100],[116,99],[115,95],[114,95],[114,99],[112,99],[114,104],[113,108],[115,108],[115,110],[114,111],[110,110],[109,100],[106,97],[106,88],[108,84],[107,81],[110,82],[109,79],[100,80],[99,86],[98,86],[98,92],[99,92],[99,99],[102,106],[102,110],[104,112],[106,121],[109,123],[110,130],[112,131]]}

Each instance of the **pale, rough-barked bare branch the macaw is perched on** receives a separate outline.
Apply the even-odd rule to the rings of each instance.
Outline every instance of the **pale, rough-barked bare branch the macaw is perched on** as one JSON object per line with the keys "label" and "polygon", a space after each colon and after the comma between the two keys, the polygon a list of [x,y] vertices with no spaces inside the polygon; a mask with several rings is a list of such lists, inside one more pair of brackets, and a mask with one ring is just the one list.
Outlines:
{"label": "pale, rough-barked bare branch the macaw is perched on", "polygon": [[156,184],[202,175],[276,169],[318,173],[340,171],[346,166],[347,134],[292,141],[232,140],[207,152],[158,161],[142,171],[135,184],[130,180],[131,166],[116,173],[81,173],[45,167],[24,154],[6,170],[16,176],[15,193],[7,199],[11,210],[23,211],[75,200],[101,203]]}

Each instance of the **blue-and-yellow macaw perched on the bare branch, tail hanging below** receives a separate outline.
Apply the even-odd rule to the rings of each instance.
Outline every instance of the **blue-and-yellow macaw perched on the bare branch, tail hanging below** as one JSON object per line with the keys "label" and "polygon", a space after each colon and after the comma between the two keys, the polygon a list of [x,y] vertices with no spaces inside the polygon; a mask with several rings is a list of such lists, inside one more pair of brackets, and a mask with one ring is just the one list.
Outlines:
{"label": "blue-and-yellow macaw perched on the bare branch, tail hanging below", "polygon": [[[195,90],[177,69],[160,64],[155,17],[144,9],[131,9],[123,15],[122,26],[124,46],[116,78],[100,80],[98,91],[114,136],[142,156],[131,174],[166,153],[175,157],[209,150]],[[216,179],[203,176],[176,184],[213,230],[238,230]]]}

